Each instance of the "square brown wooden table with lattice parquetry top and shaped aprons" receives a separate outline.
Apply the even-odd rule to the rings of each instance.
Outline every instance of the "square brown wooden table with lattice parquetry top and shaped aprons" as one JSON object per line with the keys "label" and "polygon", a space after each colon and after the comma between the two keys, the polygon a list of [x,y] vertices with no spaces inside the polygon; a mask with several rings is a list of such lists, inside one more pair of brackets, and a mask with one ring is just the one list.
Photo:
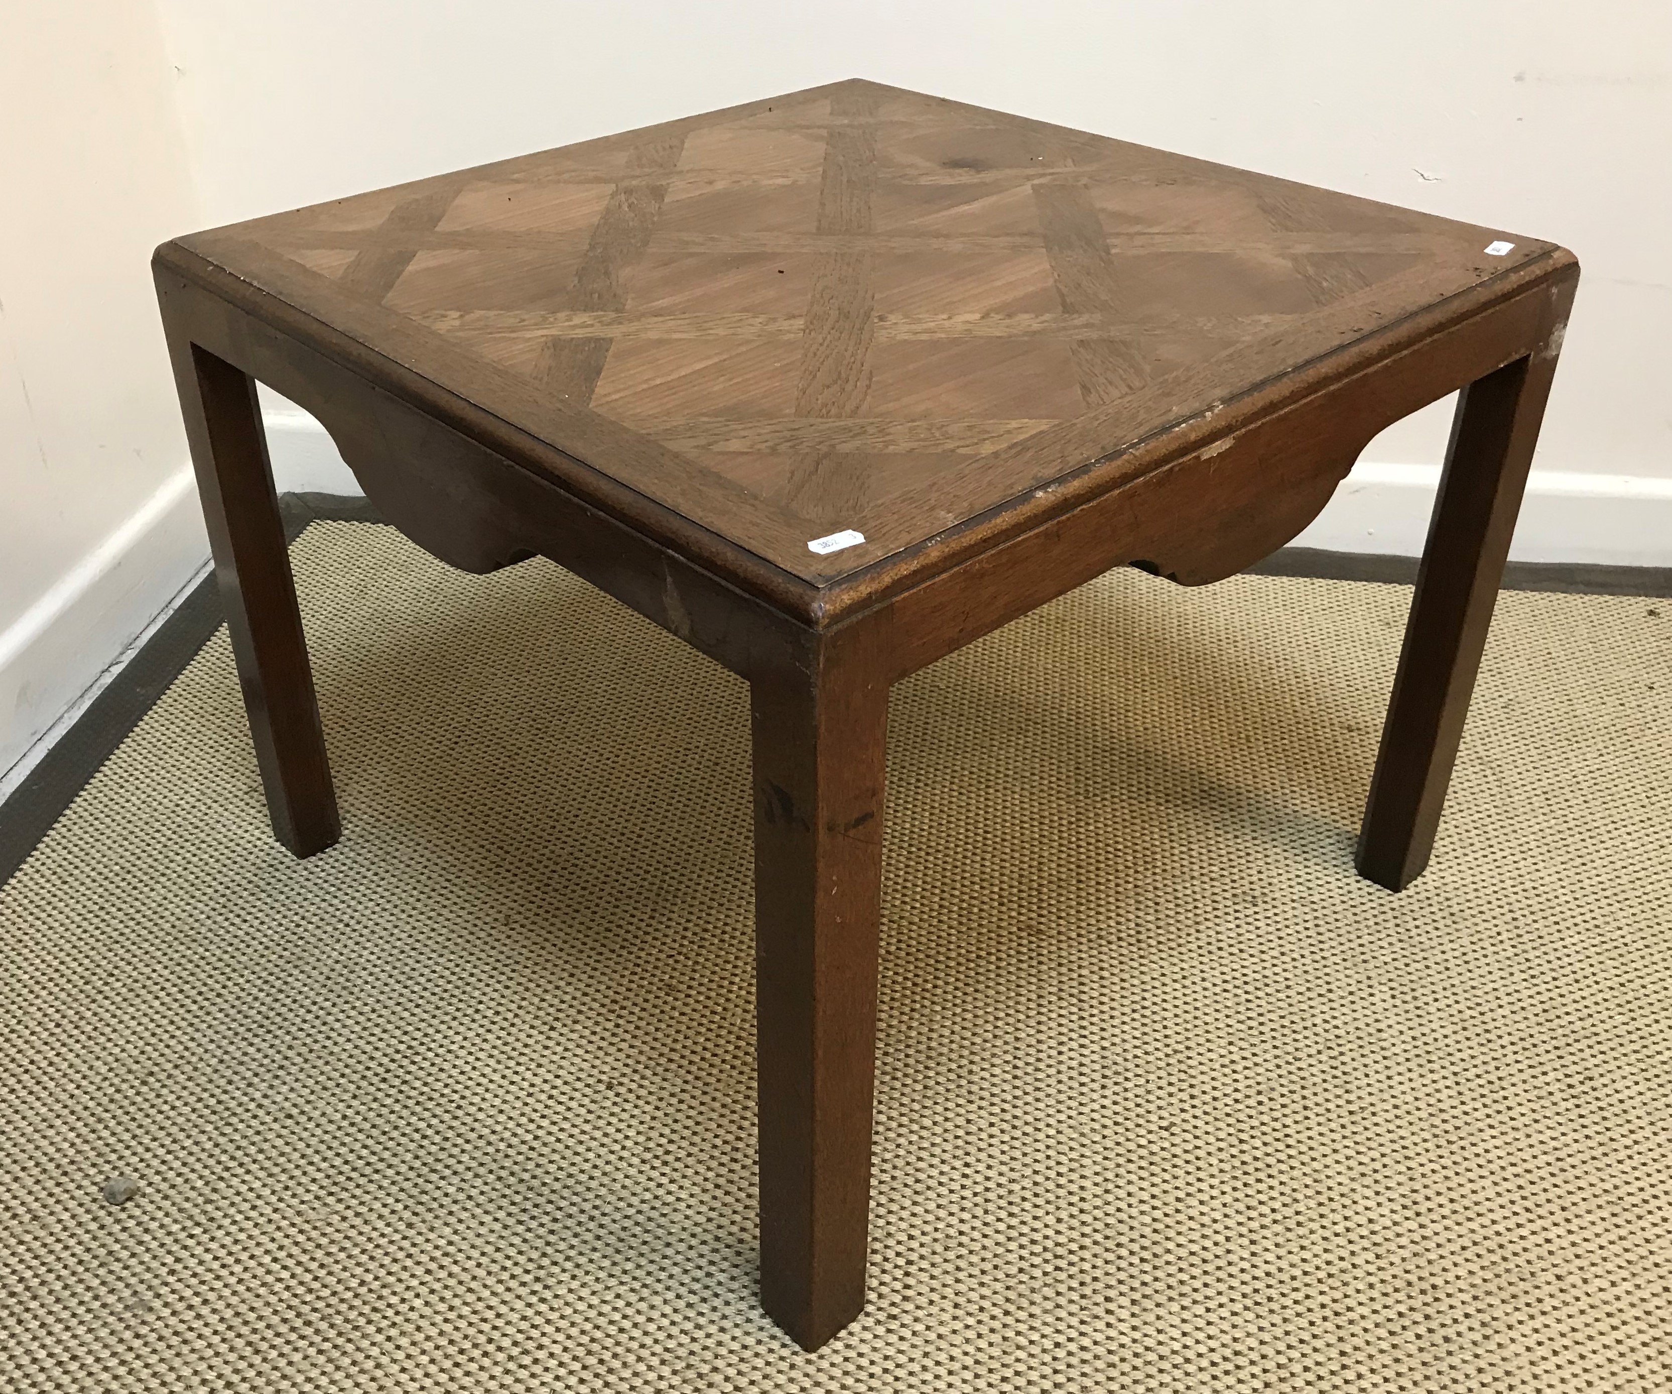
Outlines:
{"label": "square brown wooden table with lattice parquetry top and shaped aprons", "polygon": [[1517,233],[873,82],[154,269],[293,852],[339,828],[257,378],[435,556],[548,556],[749,681],[761,1302],[808,1349],[864,1304],[890,684],[1114,566],[1241,571],[1463,388],[1358,848],[1401,889],[1578,278]]}

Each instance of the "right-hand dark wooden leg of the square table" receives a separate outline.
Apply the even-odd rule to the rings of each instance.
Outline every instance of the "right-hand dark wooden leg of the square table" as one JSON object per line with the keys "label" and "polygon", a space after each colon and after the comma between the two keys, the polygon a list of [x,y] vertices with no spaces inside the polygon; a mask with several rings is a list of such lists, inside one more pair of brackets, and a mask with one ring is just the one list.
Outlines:
{"label": "right-hand dark wooden leg of the square table", "polygon": [[1416,880],[1435,845],[1572,283],[1565,290],[1548,340],[1528,358],[1471,383],[1458,400],[1359,830],[1359,875],[1388,890]]}

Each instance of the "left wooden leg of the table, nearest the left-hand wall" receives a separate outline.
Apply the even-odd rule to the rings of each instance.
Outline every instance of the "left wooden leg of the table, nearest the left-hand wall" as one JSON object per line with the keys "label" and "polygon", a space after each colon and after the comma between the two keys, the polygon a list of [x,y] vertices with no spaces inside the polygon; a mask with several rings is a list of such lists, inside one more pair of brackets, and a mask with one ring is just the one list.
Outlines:
{"label": "left wooden leg of the table, nearest the left-hand wall", "polygon": [[341,823],[256,383],[172,330],[169,351],[273,832],[309,857]]}

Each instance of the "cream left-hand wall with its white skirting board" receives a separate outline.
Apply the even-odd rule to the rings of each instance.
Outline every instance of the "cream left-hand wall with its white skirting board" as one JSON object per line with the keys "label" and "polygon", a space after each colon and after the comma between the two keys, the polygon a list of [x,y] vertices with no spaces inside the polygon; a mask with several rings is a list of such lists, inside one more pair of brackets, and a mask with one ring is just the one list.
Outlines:
{"label": "cream left-hand wall with its white skirting board", "polygon": [[0,775],[206,561],[147,263],[199,219],[157,15],[0,40]]}

